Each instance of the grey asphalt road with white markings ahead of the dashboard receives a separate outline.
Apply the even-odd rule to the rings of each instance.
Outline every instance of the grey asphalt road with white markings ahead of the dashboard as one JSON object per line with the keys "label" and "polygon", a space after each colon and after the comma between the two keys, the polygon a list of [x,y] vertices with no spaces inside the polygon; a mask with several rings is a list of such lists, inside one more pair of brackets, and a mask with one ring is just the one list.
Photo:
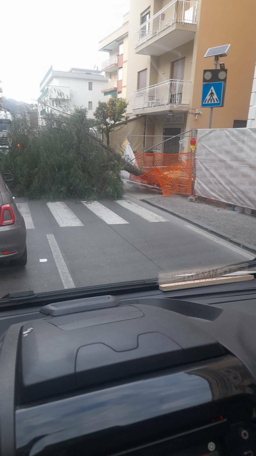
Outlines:
{"label": "grey asphalt road with white markings ahead of the dashboard", "polygon": [[15,198],[26,218],[25,268],[0,266],[0,296],[158,277],[254,258],[129,192],[119,202]]}

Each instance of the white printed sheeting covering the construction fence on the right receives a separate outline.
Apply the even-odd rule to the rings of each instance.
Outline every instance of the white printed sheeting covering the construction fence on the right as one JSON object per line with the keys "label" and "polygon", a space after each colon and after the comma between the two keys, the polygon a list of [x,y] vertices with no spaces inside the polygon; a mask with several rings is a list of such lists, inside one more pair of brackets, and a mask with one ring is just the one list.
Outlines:
{"label": "white printed sheeting covering the construction fence on the right", "polygon": [[256,128],[198,130],[195,193],[256,209]]}

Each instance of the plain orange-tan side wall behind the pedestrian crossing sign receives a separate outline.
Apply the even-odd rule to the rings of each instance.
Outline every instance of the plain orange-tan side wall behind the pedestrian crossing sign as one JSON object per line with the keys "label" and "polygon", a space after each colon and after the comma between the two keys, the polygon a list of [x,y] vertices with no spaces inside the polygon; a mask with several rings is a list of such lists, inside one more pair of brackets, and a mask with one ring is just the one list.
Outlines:
{"label": "plain orange-tan side wall behind the pedestrian crossing sign", "polygon": [[[225,104],[213,110],[212,128],[232,128],[233,121],[246,120],[251,95],[251,82],[256,60],[256,1],[255,0],[201,0],[198,32],[195,36],[195,82],[192,108],[202,114],[195,120],[189,115],[190,128],[208,128],[210,108],[200,108],[203,70],[214,67],[214,59],[204,58],[209,47],[229,44],[230,52],[220,61],[228,69]],[[193,74],[193,73],[192,73]],[[192,75],[192,80],[194,79]]]}

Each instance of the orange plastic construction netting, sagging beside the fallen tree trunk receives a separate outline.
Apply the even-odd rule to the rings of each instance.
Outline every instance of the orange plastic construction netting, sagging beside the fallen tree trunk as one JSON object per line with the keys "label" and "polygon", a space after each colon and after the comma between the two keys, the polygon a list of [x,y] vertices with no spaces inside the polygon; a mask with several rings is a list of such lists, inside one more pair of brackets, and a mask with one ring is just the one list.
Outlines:
{"label": "orange plastic construction netting, sagging beside the fallen tree trunk", "polygon": [[136,158],[136,164],[145,172],[138,177],[131,174],[131,181],[159,187],[164,197],[174,193],[190,194],[192,182],[190,153],[145,153]]}

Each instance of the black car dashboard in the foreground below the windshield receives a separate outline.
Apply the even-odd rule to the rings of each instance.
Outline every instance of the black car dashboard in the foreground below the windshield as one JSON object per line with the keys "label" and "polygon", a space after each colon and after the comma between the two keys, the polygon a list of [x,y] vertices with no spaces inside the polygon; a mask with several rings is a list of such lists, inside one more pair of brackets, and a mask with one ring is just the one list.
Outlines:
{"label": "black car dashboard in the foreground below the windshield", "polygon": [[256,280],[0,308],[0,454],[256,455]]}

